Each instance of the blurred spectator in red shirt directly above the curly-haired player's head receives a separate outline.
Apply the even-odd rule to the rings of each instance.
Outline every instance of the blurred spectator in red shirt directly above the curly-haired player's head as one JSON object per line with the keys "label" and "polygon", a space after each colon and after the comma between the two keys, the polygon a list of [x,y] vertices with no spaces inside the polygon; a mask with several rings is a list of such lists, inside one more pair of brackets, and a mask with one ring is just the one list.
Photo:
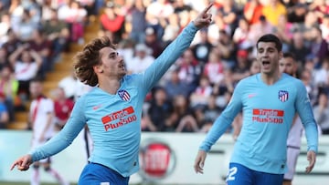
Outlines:
{"label": "blurred spectator in red shirt directly above the curly-haired player's head", "polygon": [[101,31],[109,32],[111,40],[118,43],[124,33],[124,15],[126,11],[113,2],[108,2],[101,14]]}

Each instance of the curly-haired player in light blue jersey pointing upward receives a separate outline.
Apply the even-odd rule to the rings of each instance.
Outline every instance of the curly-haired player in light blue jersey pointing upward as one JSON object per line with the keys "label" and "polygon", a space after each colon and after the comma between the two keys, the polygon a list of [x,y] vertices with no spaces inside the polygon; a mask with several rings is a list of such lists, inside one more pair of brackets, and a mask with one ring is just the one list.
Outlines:
{"label": "curly-haired player in light blue jersey pointing upward", "polygon": [[108,37],[96,38],[84,46],[74,68],[80,81],[94,88],[77,100],[67,124],[54,138],[16,159],[11,170],[16,166],[27,170],[33,162],[66,149],[87,123],[93,150],[79,184],[128,185],[129,177],[139,170],[144,98],[190,46],[196,31],[211,23],[211,6],[197,15],[141,74],[127,75],[124,61]]}

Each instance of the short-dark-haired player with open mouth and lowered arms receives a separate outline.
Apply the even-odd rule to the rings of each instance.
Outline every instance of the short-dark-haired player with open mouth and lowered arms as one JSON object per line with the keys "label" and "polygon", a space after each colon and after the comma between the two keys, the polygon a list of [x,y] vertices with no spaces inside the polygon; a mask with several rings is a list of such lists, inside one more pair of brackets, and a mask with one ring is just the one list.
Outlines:
{"label": "short-dark-haired player with open mouth and lowered arms", "polygon": [[306,173],[313,170],[318,147],[317,125],[302,81],[281,73],[281,40],[274,35],[257,41],[260,73],[239,81],[228,107],[201,143],[194,169],[203,173],[207,151],[243,111],[243,124],[230,162],[228,185],[282,184],[286,171],[287,137],[297,112],[308,141]]}

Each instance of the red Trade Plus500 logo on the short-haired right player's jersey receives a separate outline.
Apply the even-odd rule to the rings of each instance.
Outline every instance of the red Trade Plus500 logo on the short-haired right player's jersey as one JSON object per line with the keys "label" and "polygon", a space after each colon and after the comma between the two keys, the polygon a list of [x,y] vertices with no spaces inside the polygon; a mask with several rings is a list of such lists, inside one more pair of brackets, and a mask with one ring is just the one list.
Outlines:
{"label": "red Trade Plus500 logo on the short-haired right player's jersey", "polygon": [[252,121],[260,123],[283,123],[284,111],[279,109],[255,108],[252,110]]}

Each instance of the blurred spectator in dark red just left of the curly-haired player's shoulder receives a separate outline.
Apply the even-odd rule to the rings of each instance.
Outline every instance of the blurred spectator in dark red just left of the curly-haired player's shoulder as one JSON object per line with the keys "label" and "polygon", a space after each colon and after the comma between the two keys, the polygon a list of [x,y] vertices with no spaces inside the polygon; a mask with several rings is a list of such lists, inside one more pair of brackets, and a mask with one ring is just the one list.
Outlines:
{"label": "blurred spectator in dark red just left of the curly-haired player's shoulder", "polygon": [[58,87],[54,90],[54,111],[55,111],[55,125],[60,130],[63,128],[69,119],[70,113],[73,109],[74,101],[67,98],[63,88]]}

